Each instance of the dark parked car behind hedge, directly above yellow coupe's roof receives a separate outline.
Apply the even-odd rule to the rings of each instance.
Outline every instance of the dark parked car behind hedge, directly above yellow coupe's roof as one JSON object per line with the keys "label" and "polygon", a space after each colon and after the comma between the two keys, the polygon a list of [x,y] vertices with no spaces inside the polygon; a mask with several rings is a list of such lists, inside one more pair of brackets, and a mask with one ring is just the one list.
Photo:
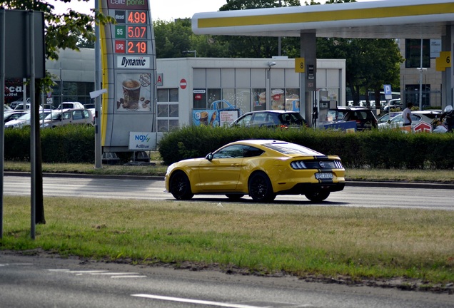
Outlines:
{"label": "dark parked car behind hedge, directly above yellow coupe's roof", "polygon": [[296,111],[251,111],[231,123],[231,127],[301,128],[306,120]]}

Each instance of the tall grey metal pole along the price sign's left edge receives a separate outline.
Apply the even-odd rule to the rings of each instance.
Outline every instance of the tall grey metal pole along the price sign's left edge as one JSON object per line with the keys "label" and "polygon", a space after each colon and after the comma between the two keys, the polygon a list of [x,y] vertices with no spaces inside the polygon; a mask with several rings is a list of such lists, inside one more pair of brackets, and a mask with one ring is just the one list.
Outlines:
{"label": "tall grey metal pole along the price sign's left edge", "polygon": [[[95,0],[95,9],[99,10],[99,1]],[[95,23],[95,91],[101,90],[101,51],[99,43],[99,26]],[[101,96],[95,98],[95,168],[102,168],[101,145]]]}

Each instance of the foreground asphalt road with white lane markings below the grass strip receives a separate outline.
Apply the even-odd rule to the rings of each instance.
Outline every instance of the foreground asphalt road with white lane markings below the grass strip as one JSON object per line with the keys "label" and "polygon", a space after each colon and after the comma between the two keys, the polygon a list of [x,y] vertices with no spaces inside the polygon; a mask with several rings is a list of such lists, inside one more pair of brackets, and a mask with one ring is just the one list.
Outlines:
{"label": "foreground asphalt road with white lane markings below the grass strip", "polygon": [[0,307],[442,308],[454,295],[0,251]]}

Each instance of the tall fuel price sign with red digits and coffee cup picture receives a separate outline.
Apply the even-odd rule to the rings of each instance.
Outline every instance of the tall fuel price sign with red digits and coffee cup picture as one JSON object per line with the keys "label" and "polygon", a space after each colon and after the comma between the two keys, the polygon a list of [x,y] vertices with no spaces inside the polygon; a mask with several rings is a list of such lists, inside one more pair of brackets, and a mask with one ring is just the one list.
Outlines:
{"label": "tall fuel price sign with red digits and coffee cup picture", "polygon": [[[156,48],[148,0],[101,0],[116,24],[101,27],[101,145],[131,150],[131,132],[156,132]],[[150,150],[153,150],[150,148]]]}

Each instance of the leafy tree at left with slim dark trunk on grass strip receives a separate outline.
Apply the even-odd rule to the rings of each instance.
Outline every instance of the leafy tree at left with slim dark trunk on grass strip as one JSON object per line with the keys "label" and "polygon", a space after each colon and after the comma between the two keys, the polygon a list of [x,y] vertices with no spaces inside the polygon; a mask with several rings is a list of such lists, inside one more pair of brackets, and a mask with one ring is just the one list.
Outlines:
{"label": "leafy tree at left with slim dark trunk on grass strip", "polygon": [[[71,0],[61,0],[63,2],[71,2]],[[88,2],[89,0],[82,0]],[[94,12],[94,16],[88,14],[81,14],[73,11],[72,9],[66,11],[64,14],[55,14],[55,6],[39,0],[5,0],[0,1],[0,6],[5,9],[21,9],[21,10],[34,10],[44,12],[45,26],[44,36],[46,37],[45,57],[46,59],[58,59],[59,49],[71,48],[79,50],[77,43],[80,39],[87,42],[95,41],[94,35],[94,22],[99,24],[106,24],[108,22],[114,23],[115,20],[109,16],[104,16],[99,12]],[[95,11],[94,9],[92,11]],[[44,89],[48,91],[53,84],[49,73],[46,78],[36,79],[35,88]],[[36,91],[35,101],[39,103],[40,93]],[[36,113],[36,123],[39,123],[39,113]],[[42,167],[41,167],[41,135],[39,128],[35,132],[36,138],[36,224],[45,224],[44,217],[44,198],[42,188]]]}

